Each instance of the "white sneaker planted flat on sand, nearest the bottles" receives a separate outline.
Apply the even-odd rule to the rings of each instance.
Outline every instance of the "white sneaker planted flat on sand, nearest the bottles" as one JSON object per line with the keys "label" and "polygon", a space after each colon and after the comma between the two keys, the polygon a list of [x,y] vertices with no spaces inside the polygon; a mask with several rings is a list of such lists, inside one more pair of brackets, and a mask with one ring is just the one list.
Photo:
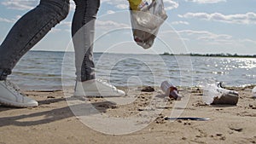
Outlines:
{"label": "white sneaker planted flat on sand, nearest the bottles", "polygon": [[76,82],[74,96],[122,96],[125,92],[100,79]]}

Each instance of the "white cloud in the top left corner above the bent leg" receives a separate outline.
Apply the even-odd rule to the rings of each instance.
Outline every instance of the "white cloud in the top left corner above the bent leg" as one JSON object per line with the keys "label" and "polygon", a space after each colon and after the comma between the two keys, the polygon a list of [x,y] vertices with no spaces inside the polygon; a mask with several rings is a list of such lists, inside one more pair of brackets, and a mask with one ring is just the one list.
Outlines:
{"label": "white cloud in the top left corner above the bent leg", "polygon": [[37,0],[3,0],[2,4],[7,9],[28,10],[38,5]]}

